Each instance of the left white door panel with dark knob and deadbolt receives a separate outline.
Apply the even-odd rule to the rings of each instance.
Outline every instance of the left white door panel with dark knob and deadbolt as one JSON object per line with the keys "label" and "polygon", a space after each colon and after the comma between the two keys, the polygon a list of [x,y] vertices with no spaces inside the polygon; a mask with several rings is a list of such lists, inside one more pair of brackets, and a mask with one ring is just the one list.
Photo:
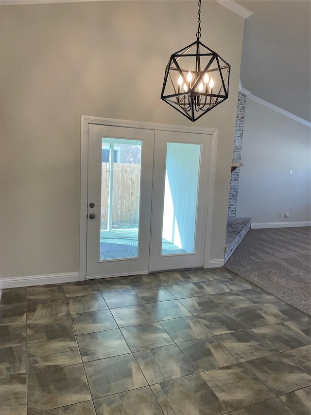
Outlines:
{"label": "left white door panel with dark knob and deadbolt", "polygon": [[148,272],[154,135],[89,126],[86,278]]}

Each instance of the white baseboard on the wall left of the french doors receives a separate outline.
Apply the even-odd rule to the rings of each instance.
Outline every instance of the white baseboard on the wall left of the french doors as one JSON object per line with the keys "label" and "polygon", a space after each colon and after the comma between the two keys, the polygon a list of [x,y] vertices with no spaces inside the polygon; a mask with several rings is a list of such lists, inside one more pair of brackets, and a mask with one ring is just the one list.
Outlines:
{"label": "white baseboard on the wall left of the french doors", "polygon": [[59,284],[79,281],[79,272],[65,274],[31,275],[27,277],[1,278],[2,288],[29,287],[32,285]]}

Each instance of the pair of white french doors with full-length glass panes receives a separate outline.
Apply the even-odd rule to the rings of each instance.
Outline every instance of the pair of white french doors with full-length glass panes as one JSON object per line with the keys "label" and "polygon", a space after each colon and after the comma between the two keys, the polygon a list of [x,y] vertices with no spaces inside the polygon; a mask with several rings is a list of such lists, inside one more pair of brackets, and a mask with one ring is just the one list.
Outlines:
{"label": "pair of white french doors with full-length glass panes", "polygon": [[209,138],[89,125],[86,278],[204,265]]}

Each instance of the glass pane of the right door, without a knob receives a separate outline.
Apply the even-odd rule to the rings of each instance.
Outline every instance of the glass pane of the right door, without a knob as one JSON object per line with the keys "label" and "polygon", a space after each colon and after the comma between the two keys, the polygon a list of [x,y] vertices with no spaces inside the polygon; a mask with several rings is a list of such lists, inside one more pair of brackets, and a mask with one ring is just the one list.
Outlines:
{"label": "glass pane of the right door, without a knob", "polygon": [[162,255],[193,253],[201,144],[167,143]]}

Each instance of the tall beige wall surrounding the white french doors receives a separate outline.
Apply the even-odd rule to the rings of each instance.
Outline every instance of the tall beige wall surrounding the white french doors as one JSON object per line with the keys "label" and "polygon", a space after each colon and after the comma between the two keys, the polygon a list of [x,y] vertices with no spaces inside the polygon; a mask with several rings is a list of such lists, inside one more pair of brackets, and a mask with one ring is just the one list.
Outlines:
{"label": "tall beige wall surrounding the white french doors", "polygon": [[[160,100],[170,55],[195,40],[193,1],[1,6],[1,274],[79,270],[81,114],[193,125]],[[211,258],[224,257],[244,20],[202,4],[202,38],[231,66],[219,128]],[[123,92],[125,91],[125,93]]]}

